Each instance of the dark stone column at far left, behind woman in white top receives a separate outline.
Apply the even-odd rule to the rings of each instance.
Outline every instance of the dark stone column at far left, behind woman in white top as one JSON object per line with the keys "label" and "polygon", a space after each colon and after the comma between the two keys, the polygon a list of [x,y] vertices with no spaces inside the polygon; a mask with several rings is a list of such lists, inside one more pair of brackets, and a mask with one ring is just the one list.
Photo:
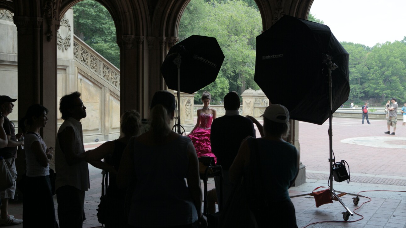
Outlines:
{"label": "dark stone column at far left, behind woman in white top", "polygon": [[56,33],[59,21],[55,6],[46,5],[43,17],[16,15],[18,45],[18,119],[24,117],[32,104],[50,110],[48,124],[41,130],[48,146],[55,146],[57,119]]}

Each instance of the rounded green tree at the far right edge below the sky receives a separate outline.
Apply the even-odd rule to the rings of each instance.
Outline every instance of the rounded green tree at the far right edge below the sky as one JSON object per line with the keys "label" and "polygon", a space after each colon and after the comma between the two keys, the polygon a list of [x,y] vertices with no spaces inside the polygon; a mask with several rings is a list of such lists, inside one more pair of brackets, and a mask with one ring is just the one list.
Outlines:
{"label": "rounded green tree at the far right edge below the sky", "polygon": [[369,97],[405,96],[406,46],[400,41],[375,45],[367,56],[365,92]]}

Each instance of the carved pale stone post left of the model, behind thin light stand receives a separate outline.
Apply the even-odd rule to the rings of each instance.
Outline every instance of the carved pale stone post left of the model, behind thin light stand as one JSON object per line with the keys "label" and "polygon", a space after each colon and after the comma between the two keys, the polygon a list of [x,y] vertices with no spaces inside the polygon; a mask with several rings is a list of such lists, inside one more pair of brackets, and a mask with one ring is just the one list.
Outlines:
{"label": "carved pale stone post left of the model, behind thin light stand", "polygon": [[[180,123],[181,126],[185,128],[186,132],[190,132],[194,127],[194,94],[186,94],[180,92]],[[173,91],[173,95],[176,98],[177,91]],[[177,117],[177,107],[175,117]]]}

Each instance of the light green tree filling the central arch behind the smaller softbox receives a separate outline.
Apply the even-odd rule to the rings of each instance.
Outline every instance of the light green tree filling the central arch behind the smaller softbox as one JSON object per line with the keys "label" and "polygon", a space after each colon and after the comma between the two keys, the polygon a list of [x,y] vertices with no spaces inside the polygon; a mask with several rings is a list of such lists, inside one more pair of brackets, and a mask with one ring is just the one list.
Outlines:
{"label": "light green tree filling the central arch behind the smaller softbox", "polygon": [[[214,85],[210,85],[212,90],[206,87],[199,90],[198,94],[204,90],[211,93],[222,91],[218,96],[212,96],[214,100],[219,101],[229,91],[241,94],[248,87],[259,89],[253,78],[255,38],[261,34],[261,24],[259,11],[249,6],[246,1],[190,1],[181,18],[179,37],[184,39],[192,34],[216,37],[225,55],[221,75],[219,74]],[[227,84],[228,88],[225,89]],[[198,99],[200,97],[196,100]]]}

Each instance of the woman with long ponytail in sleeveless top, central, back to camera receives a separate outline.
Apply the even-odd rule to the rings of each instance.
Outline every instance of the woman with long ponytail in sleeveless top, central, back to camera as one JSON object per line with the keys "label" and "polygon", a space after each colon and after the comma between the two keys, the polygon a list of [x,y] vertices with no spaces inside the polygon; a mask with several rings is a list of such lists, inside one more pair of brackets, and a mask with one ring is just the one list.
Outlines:
{"label": "woman with long ponytail in sleeveless top, central, back to camera", "polygon": [[[175,97],[154,94],[151,128],[130,139],[121,158],[117,185],[134,186],[129,227],[192,228],[207,222],[201,213],[199,164],[192,141],[171,131]],[[186,181],[185,181],[186,178]]]}

